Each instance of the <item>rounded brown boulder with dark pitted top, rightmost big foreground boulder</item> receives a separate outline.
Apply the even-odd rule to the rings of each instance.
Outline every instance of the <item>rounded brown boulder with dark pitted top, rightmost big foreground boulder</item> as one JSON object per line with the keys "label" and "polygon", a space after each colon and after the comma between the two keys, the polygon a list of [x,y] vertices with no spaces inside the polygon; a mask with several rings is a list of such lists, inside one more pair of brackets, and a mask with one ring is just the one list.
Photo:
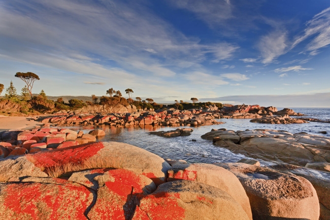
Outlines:
{"label": "rounded brown boulder with dark pitted top, rightmost big foreground boulder", "polygon": [[253,219],[319,218],[313,185],[305,178],[242,163],[217,163],[233,172],[249,197]]}

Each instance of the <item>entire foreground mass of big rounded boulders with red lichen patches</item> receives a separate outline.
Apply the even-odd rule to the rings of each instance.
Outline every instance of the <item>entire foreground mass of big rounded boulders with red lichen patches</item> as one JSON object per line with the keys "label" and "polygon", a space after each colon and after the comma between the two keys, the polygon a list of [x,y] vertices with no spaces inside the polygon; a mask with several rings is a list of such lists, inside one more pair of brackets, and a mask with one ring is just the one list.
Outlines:
{"label": "entire foreground mass of big rounded boulders with red lichen patches", "polygon": [[[326,215],[328,188],[315,184],[316,190],[298,171],[275,168],[163,160],[117,142],[40,151],[0,160],[0,219],[318,220],[330,216]],[[323,195],[318,197],[319,192]]]}

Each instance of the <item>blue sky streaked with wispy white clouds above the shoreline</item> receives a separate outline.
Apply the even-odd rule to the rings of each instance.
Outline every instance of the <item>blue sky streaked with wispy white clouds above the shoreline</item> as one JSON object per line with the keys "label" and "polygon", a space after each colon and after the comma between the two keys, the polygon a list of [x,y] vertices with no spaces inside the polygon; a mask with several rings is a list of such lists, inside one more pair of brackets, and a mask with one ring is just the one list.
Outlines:
{"label": "blue sky streaked with wispy white clouds above the shoreline", "polygon": [[328,0],[0,0],[0,83],[49,96],[330,107],[329,44]]}

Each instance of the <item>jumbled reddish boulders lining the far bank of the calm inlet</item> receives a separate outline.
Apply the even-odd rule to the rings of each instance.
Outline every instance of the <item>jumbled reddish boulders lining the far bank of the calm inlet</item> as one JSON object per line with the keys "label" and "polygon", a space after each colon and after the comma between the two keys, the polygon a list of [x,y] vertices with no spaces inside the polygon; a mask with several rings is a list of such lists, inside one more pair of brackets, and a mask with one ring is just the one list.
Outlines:
{"label": "jumbled reddish boulders lining the far bank of the calm inlet", "polygon": [[145,111],[138,110],[133,113],[111,113],[107,115],[100,114],[71,114],[47,117],[42,120],[43,123],[69,124],[69,125],[111,125],[115,127],[140,126],[146,124],[155,126],[204,126],[220,124],[214,120],[220,118],[219,113],[203,112],[202,110],[161,110]]}

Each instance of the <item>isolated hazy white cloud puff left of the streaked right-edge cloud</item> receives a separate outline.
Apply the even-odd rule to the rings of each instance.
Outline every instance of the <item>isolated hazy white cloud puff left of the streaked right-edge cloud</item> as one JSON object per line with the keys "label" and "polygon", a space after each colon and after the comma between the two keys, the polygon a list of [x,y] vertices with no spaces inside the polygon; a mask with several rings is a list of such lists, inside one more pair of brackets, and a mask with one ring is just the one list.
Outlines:
{"label": "isolated hazy white cloud puff left of the streaked right-edge cloud", "polygon": [[280,55],[286,53],[287,34],[284,30],[275,29],[266,36],[262,36],[258,43],[258,48],[261,52],[262,63],[270,64]]}

